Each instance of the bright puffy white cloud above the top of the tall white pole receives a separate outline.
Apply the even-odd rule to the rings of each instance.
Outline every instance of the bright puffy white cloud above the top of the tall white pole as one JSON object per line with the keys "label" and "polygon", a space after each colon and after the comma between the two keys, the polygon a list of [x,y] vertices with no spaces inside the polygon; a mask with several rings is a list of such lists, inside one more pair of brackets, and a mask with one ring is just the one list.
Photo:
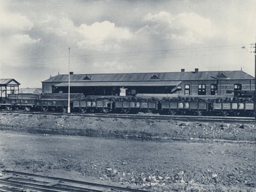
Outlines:
{"label": "bright puffy white cloud above the top of the tall white pole", "polygon": [[129,29],[117,27],[113,22],[105,20],[91,25],[82,23],[76,26],[64,15],[61,18],[45,15],[40,28],[44,28],[45,33],[55,34],[64,41],[68,41],[68,44],[75,43],[80,50],[119,50],[122,41],[132,38]]}

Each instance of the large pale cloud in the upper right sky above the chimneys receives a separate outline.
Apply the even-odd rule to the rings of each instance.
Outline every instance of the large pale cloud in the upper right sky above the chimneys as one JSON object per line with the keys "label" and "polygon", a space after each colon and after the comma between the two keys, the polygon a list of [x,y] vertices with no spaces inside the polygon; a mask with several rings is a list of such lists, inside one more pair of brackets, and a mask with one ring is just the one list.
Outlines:
{"label": "large pale cloud in the upper right sky above the chimneys", "polygon": [[[145,16],[151,33],[160,34],[168,40],[184,41],[185,43],[202,43],[218,34],[216,27],[209,18],[204,18],[197,13],[179,13],[172,15],[166,11]],[[144,27],[140,33],[145,33],[149,27]]]}

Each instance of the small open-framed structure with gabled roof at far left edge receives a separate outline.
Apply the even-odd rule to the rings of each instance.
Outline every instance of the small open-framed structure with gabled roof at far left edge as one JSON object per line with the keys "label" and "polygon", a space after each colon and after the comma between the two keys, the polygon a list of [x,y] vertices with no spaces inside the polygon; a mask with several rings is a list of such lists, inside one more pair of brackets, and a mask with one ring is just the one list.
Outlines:
{"label": "small open-framed structure with gabled roof at far left edge", "polygon": [[18,93],[19,85],[14,78],[0,78],[0,97],[6,98],[8,94]]}

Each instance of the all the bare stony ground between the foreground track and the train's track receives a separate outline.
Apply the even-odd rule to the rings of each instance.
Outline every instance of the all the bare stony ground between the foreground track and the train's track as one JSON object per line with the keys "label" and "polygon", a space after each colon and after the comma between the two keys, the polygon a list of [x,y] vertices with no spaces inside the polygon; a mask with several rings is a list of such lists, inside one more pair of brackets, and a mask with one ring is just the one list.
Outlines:
{"label": "all the bare stony ground between the foreground track and the train's track", "polygon": [[[157,124],[159,124],[159,131],[168,138],[174,133],[182,136],[184,132],[186,133],[184,138],[185,135],[186,137],[195,136],[194,133],[201,136],[207,135],[207,138],[211,138],[213,133],[216,133],[215,135],[219,138],[221,131],[226,135],[225,140],[214,140],[215,137],[213,137],[212,140],[205,138],[204,141],[184,139],[159,142],[113,137],[84,137],[78,136],[79,134],[68,136],[67,131],[65,131],[66,135],[52,135],[40,133],[42,129],[38,131],[39,133],[31,134],[27,132],[31,132],[31,124],[39,122],[36,121],[39,117],[26,115],[20,117],[19,115],[19,118],[16,117],[17,121],[11,117],[13,116],[10,114],[0,115],[2,129],[0,131],[0,171],[16,170],[116,186],[130,186],[149,191],[256,191],[254,126],[236,125],[234,128],[234,125],[230,124],[221,126],[219,129],[216,124],[202,126],[199,123],[189,125],[169,121],[145,122],[147,124],[145,133],[149,135],[157,129]],[[45,118],[45,122],[49,123],[53,119],[52,127],[60,126],[64,121],[63,118],[49,117]],[[72,127],[70,121],[67,119],[65,121],[69,128]],[[74,124],[77,124],[77,121],[81,125],[82,120],[76,119]],[[90,124],[90,129],[93,123],[99,124],[104,121],[102,128],[98,128],[103,133],[104,128],[113,120],[86,119],[86,121]],[[24,122],[28,122],[28,128]],[[41,122],[44,123],[44,121]],[[120,119],[117,122],[120,124]],[[114,128],[117,122],[116,120],[112,122]],[[164,123],[166,128],[170,129],[169,132],[168,129],[163,128]],[[125,126],[131,126],[134,131],[136,122],[129,124],[128,120],[125,120],[122,124],[124,126],[121,128],[125,129],[125,133],[130,134],[131,132]],[[137,124],[140,125],[138,129],[143,128],[145,131],[142,120],[138,120]],[[198,132],[199,128],[197,130],[196,126],[202,131]],[[16,132],[9,131],[12,128]],[[19,128],[22,132],[19,132]],[[193,131],[192,128],[195,130]],[[232,130],[228,131],[230,128]],[[49,130],[49,124],[47,129]],[[144,135],[145,133],[143,132]],[[252,134],[249,135],[249,133]],[[236,137],[234,134],[237,134]],[[161,133],[159,135],[161,136]],[[227,135],[231,136],[227,137]]]}

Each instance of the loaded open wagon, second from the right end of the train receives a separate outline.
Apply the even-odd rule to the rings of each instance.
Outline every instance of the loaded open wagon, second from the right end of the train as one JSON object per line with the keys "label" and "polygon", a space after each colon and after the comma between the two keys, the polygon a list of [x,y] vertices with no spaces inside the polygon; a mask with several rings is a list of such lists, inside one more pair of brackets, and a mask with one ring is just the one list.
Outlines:
{"label": "loaded open wagon, second from the right end of the train", "polygon": [[202,115],[208,111],[207,101],[173,101],[161,100],[161,114]]}

